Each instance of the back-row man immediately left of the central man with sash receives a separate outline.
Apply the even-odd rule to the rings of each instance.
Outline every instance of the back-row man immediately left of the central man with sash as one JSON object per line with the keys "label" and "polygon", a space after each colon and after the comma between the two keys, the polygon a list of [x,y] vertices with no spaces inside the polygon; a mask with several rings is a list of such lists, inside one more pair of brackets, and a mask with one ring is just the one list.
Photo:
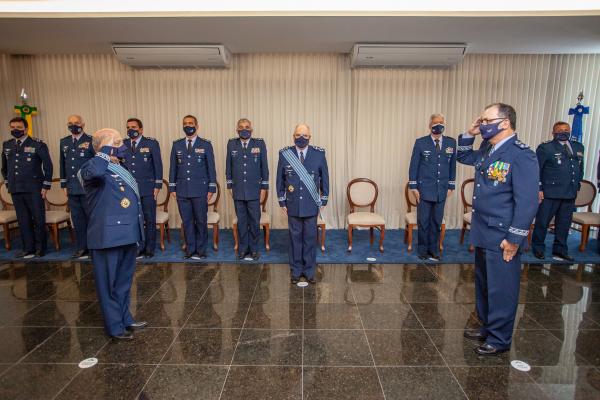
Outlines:
{"label": "back-row man immediately left of the central man with sash", "polygon": [[238,259],[250,254],[258,260],[260,236],[260,199],[269,190],[269,164],[267,146],[260,138],[253,138],[252,123],[242,118],[237,123],[239,138],[227,142],[225,175],[227,189],[233,197],[238,219]]}

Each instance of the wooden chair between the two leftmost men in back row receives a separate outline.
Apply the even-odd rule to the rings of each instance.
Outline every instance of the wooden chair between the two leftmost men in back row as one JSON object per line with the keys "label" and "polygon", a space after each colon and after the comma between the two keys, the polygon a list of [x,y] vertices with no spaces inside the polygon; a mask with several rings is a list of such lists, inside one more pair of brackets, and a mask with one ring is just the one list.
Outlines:
{"label": "wooden chair between the two leftmost men in back row", "polygon": [[60,250],[61,229],[68,228],[71,243],[75,243],[75,234],[71,226],[68,201],[67,195],[60,187],[60,179],[52,179],[52,186],[46,192],[46,226],[50,231],[56,251]]}

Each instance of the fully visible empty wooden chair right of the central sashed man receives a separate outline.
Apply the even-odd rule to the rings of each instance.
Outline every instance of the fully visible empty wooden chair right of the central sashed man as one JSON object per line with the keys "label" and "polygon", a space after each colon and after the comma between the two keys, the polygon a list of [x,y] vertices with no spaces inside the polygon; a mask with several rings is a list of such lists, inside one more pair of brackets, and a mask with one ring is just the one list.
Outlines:
{"label": "fully visible empty wooden chair right of the central sashed man", "polygon": [[[377,184],[367,178],[353,179],[346,187],[346,196],[350,203],[348,214],[348,252],[352,251],[352,231],[355,227],[369,228],[370,242],[373,245],[373,230],[380,232],[379,251],[383,253],[383,239],[385,237],[385,220],[375,213],[375,203],[379,196]],[[369,212],[356,211],[357,208],[369,207]]]}

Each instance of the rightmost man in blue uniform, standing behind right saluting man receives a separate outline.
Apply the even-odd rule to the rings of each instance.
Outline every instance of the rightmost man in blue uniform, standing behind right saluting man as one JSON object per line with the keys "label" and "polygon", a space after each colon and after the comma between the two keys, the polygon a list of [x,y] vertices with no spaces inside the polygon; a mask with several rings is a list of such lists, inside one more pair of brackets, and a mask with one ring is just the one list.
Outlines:
{"label": "rightmost man in blue uniform, standing behind right saluting man", "polygon": [[564,261],[573,261],[569,255],[567,238],[575,210],[575,198],[583,179],[583,144],[570,140],[571,127],[556,122],[552,127],[553,139],[540,144],[536,150],[540,165],[539,199],[535,217],[532,250],[535,257],[544,259],[544,240],[548,225],[554,217],[552,255]]}

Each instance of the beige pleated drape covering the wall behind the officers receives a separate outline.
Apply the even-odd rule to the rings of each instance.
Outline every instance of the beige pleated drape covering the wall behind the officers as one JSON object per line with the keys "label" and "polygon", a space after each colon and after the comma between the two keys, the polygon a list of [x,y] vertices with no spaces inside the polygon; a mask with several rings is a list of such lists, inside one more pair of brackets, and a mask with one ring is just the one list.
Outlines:
{"label": "beige pleated drape covering the wall behind the officers", "polygon": [[[161,144],[165,178],[171,143],[182,136],[181,118],[194,114],[215,148],[221,185],[227,140],[238,118],[251,119],[269,151],[274,227],[286,225],[275,195],[278,150],[291,144],[298,122],[311,125],[312,143],[327,150],[331,200],[324,218],[334,228],[345,226],[346,183],[355,177],[378,183],[377,211],[388,227],[400,226],[412,145],[426,133],[431,113],[445,114],[446,133],[457,136],[486,104],[512,104],[521,140],[535,148],[549,138],[553,122],[568,120],[583,90],[591,106],[584,120],[585,175],[596,173],[600,55],[469,55],[451,69],[357,70],[343,54],[236,55],[227,70],[135,70],[110,55],[0,55],[0,68],[4,137],[25,87],[39,108],[34,131],[50,146],[55,176],[58,141],[68,133],[71,113],[83,115],[88,132],[115,127],[124,134],[128,117],[142,119],[145,133]],[[471,168],[459,166],[457,184],[471,175]],[[219,212],[228,227],[233,205],[228,196],[222,199]],[[450,227],[460,225],[461,212],[457,191],[446,206]],[[171,217],[179,222],[174,203]]]}

